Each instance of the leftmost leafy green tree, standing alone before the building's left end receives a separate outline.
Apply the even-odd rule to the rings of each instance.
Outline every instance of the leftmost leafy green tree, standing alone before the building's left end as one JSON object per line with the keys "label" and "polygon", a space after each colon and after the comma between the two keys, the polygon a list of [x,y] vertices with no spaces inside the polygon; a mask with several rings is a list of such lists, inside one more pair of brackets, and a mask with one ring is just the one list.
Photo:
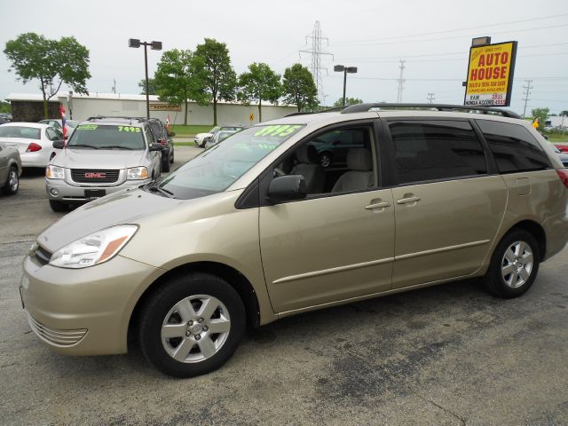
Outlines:
{"label": "leftmost leafy green tree, standing alone before the building's left end", "polygon": [[50,40],[36,33],[20,34],[6,43],[4,54],[11,69],[26,84],[38,79],[43,94],[43,114],[48,117],[47,103],[66,83],[76,93],[88,94],[89,51],[75,37]]}

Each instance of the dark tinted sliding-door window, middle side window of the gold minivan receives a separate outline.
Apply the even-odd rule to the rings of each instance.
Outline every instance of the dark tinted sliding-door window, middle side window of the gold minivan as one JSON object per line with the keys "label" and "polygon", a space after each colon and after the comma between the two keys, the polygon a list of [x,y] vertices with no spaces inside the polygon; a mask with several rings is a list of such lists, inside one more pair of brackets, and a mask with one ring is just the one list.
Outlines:
{"label": "dark tinted sliding-door window, middle side window of the gold minivan", "polygon": [[487,173],[485,153],[469,122],[389,122],[398,183],[471,177]]}

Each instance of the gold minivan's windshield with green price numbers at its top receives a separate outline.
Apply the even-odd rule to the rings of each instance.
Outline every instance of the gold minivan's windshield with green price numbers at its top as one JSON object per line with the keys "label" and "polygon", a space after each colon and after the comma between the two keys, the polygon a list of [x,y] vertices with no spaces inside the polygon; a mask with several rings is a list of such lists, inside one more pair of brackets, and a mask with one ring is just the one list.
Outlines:
{"label": "gold minivan's windshield with green price numbers at its top", "polygon": [[180,199],[225,191],[302,128],[303,124],[274,124],[241,130],[163,177],[154,188]]}

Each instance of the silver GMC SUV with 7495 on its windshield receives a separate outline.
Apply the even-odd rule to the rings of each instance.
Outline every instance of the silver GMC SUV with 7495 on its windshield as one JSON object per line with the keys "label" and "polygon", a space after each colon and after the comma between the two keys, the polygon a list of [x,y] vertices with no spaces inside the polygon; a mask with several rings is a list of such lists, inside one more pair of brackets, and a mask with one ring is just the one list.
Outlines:
{"label": "silver GMC SUV with 7495 on its windshield", "polygon": [[[55,142],[55,147],[63,147]],[[96,117],[79,124],[45,170],[53,211],[160,177],[162,145],[145,119]]]}

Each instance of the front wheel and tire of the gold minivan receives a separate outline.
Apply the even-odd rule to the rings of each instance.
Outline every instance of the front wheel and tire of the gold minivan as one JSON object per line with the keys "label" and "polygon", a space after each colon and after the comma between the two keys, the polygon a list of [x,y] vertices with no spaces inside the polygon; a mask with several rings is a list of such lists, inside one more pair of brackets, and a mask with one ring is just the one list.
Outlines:
{"label": "front wheel and tire of the gold minivan", "polygon": [[207,273],[171,279],[140,313],[138,339],[146,359],[174,377],[204,375],[231,358],[245,329],[241,297]]}

